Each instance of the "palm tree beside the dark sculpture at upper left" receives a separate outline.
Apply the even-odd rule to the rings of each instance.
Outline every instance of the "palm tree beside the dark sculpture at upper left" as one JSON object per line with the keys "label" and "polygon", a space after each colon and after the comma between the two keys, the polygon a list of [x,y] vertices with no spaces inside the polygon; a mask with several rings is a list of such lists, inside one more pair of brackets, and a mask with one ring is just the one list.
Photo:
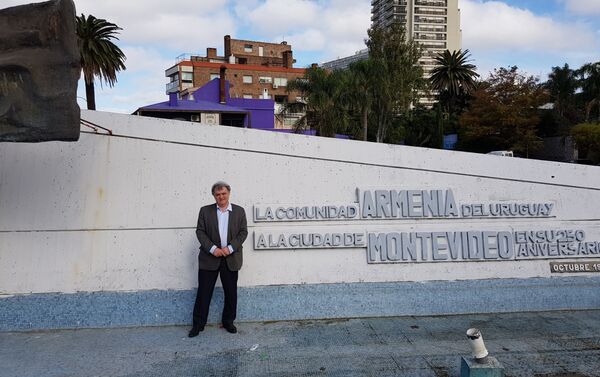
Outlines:
{"label": "palm tree beside the dark sculpture at upper left", "polygon": [[117,72],[125,69],[125,54],[112,40],[122,30],[117,25],[94,16],[75,17],[77,45],[81,56],[81,70],[85,80],[85,95],[89,110],[96,110],[94,77],[109,86],[117,82]]}

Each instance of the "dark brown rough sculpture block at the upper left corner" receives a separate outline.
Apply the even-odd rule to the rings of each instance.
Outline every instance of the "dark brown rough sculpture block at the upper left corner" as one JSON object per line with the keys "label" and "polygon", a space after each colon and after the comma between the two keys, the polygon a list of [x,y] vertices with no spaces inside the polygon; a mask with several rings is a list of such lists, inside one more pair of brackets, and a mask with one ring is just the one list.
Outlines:
{"label": "dark brown rough sculpture block at the upper left corner", "polygon": [[72,0],[0,10],[0,142],[79,138]]}

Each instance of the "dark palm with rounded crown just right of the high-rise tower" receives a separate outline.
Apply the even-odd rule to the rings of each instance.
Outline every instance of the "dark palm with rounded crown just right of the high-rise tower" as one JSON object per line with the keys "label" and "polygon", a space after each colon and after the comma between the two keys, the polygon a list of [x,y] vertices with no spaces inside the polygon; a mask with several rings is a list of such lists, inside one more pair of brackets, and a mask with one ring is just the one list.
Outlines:
{"label": "dark palm with rounded crown just right of the high-rise tower", "polygon": [[469,63],[469,50],[449,50],[434,57],[437,67],[431,70],[431,87],[441,96],[448,97],[448,112],[453,111],[456,99],[471,92],[477,84],[479,74],[474,64]]}

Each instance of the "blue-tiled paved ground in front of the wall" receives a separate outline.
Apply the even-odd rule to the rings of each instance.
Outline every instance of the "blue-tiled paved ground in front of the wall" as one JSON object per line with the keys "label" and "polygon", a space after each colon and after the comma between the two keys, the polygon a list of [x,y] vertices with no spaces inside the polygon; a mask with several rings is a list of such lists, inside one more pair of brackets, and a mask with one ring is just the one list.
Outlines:
{"label": "blue-tiled paved ground in front of the wall", "polygon": [[459,376],[469,327],[506,376],[600,376],[600,310],[0,333],[0,376]]}

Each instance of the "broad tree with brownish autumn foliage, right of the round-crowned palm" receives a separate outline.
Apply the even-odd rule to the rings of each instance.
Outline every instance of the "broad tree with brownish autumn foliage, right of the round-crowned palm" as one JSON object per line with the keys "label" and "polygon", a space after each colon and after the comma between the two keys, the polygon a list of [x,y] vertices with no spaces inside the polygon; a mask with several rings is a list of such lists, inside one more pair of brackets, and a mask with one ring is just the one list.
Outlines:
{"label": "broad tree with brownish autumn foliage, right of the round-crowned palm", "polygon": [[527,156],[541,147],[538,108],[547,100],[533,76],[520,74],[517,67],[495,69],[473,92],[469,109],[459,118],[462,149],[511,149]]}

